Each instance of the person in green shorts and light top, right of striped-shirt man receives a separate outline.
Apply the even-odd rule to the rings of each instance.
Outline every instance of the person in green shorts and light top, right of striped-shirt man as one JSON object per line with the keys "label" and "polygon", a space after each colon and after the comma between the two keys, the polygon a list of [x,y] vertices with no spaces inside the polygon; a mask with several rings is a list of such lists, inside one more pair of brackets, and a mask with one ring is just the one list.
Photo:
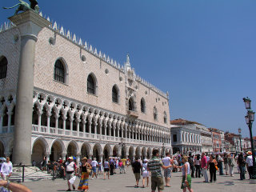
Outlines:
{"label": "person in green shorts and light top, right of striped-shirt man", "polygon": [[193,192],[194,190],[191,189],[191,175],[190,175],[190,163],[188,162],[188,157],[183,156],[182,157],[182,186],[181,189],[183,192],[186,192],[186,188]]}

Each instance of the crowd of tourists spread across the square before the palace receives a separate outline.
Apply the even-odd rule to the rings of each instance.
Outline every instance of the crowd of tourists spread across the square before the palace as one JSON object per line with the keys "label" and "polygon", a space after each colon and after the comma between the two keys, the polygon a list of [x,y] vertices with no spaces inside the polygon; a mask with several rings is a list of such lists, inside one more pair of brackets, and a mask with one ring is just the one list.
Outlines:
{"label": "crowd of tourists spread across the square before the palace", "polygon": [[[0,181],[1,189],[13,190],[13,191],[30,191],[26,186],[16,185],[10,182],[10,176],[13,172],[13,166],[10,162],[10,158],[0,158],[0,172],[2,180]],[[40,169],[46,170],[48,173],[52,173],[53,177],[64,178],[67,180],[68,189],[66,191],[76,190],[74,186],[75,178],[80,178],[80,182],[77,190],[87,191],[89,190],[89,178],[97,179],[98,174],[103,174],[103,179],[110,179],[110,175],[116,174],[119,170],[119,174],[126,174],[127,167],[132,166],[135,187],[139,186],[139,180],[142,176],[142,187],[149,186],[149,180],[151,178],[151,191],[154,192],[158,189],[159,192],[164,190],[164,186],[170,187],[170,178],[173,172],[182,172],[181,189],[183,192],[189,190],[193,192],[191,188],[192,178],[201,178],[202,182],[216,182],[217,173],[219,175],[226,174],[227,176],[234,177],[234,163],[237,163],[238,173],[240,179],[246,179],[246,171],[249,174],[249,178],[252,178],[253,172],[253,158],[252,152],[240,154],[174,154],[170,155],[166,153],[163,158],[159,157],[159,151],[153,150],[151,159],[140,159],[135,157],[130,161],[120,158],[106,158],[103,162],[96,159],[87,159],[86,157],[81,159],[81,162],[76,164],[74,157],[67,158],[66,161],[62,161],[59,158],[58,161],[47,162],[46,158],[43,158]],[[224,164],[224,166],[223,166]],[[32,162],[33,166],[36,163]],[[163,175],[162,170],[163,169]],[[225,172],[224,172],[225,169]],[[210,174],[210,181],[208,175]],[[164,183],[165,182],[165,183]],[[4,191],[4,190],[3,190]]]}

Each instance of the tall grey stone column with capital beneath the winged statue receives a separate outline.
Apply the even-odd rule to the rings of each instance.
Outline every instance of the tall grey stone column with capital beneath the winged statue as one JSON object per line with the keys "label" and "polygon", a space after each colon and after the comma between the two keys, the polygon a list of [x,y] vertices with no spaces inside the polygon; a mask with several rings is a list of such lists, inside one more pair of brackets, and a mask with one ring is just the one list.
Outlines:
{"label": "tall grey stone column with capital beneath the winged statue", "polygon": [[38,33],[50,22],[34,11],[10,17],[21,35],[18,86],[15,107],[14,164],[31,165],[31,122],[33,113],[34,55]]}

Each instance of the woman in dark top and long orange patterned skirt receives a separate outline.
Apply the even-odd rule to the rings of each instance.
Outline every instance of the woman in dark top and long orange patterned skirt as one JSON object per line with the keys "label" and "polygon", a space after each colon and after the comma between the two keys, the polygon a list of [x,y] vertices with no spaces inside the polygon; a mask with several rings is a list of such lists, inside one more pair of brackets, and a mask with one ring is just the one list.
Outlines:
{"label": "woman in dark top and long orange patterned skirt", "polygon": [[92,169],[92,167],[90,166],[90,163],[87,162],[87,158],[84,157],[82,158],[82,166],[80,169],[80,173],[79,175],[81,176],[80,178],[80,182],[79,182],[79,186],[78,186],[78,190],[83,190],[83,191],[87,191],[89,190],[89,171],[88,169]]}

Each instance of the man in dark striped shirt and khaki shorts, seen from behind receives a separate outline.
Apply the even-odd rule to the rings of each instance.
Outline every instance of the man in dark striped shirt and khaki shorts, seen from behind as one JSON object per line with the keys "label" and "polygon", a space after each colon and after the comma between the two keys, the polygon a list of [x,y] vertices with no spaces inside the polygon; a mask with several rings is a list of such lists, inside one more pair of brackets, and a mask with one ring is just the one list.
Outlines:
{"label": "man in dark striped shirt and khaki shorts, seen from behind", "polygon": [[147,163],[147,170],[151,172],[151,190],[154,192],[158,188],[158,192],[164,190],[164,183],[162,180],[161,167],[163,169],[168,169],[170,166],[164,166],[159,159],[159,151],[153,150],[153,158]]}

